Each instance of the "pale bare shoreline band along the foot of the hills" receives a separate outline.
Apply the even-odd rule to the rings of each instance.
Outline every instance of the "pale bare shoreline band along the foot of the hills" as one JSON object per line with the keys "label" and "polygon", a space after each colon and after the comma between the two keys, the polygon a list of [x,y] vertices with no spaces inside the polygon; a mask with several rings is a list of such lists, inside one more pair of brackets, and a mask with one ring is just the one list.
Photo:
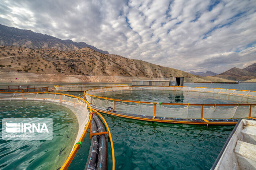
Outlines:
{"label": "pale bare shoreline band along the foot of the hills", "polygon": [[[105,75],[65,75],[65,74],[35,74],[23,72],[0,71],[1,83],[114,83],[132,82],[132,80],[169,80],[169,78],[148,78],[131,76],[105,76]],[[211,82],[236,82],[234,80],[221,79],[214,76],[184,77],[184,83],[211,83]],[[256,82],[256,80],[255,80]],[[255,83],[254,81],[246,83]],[[243,82],[245,83],[245,82]]]}

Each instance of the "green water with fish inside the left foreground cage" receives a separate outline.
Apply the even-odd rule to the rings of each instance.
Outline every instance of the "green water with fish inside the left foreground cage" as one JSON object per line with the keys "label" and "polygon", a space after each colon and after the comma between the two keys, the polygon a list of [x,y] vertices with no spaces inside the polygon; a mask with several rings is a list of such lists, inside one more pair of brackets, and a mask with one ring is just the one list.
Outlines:
{"label": "green water with fish inside the left foreground cage", "polygon": [[[0,169],[57,169],[63,165],[78,132],[78,122],[71,110],[58,104],[29,101],[1,101],[0,110],[0,119],[53,119],[51,141],[4,141],[1,136]],[[60,149],[64,148],[59,155]]]}

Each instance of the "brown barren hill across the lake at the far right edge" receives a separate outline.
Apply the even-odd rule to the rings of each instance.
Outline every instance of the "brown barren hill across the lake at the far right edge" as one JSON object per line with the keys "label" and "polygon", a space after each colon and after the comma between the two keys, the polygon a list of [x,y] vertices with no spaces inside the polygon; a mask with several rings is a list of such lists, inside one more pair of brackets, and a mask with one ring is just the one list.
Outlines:
{"label": "brown barren hill across the lake at the far right edge", "polygon": [[229,79],[229,80],[251,80],[256,78],[256,74],[253,74],[252,72],[240,69],[240,68],[231,68],[230,70],[227,70],[219,75],[216,75],[219,78]]}

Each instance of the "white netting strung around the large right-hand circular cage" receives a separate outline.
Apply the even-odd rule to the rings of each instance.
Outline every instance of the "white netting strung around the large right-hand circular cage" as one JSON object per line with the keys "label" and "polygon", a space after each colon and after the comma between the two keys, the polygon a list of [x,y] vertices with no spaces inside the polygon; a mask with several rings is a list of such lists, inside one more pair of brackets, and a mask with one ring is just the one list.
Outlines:
{"label": "white netting strung around the large right-hand circular cage", "polygon": [[[170,87],[170,86],[125,86],[125,87],[106,87],[95,88],[85,92],[85,98],[89,103],[102,109],[114,106],[114,110],[118,112],[140,115],[140,116],[155,116],[161,118],[182,118],[182,119],[200,119],[201,118],[201,104],[193,106],[193,104],[176,103],[175,105],[168,103],[154,103],[154,102],[139,102],[116,100],[107,98],[107,96],[114,91],[132,91],[132,90],[179,90],[189,92],[199,92],[206,95],[227,95],[229,98],[241,99],[250,98],[256,99],[256,92],[244,90],[229,90],[218,88],[199,88],[199,87]],[[91,96],[93,95],[93,96]],[[97,95],[106,96],[101,98]],[[113,104],[114,101],[114,104]],[[154,104],[156,105],[154,108]],[[205,103],[202,103],[205,104]],[[241,106],[239,104],[211,104],[203,108],[203,118],[205,119],[238,119],[248,118],[249,105]],[[251,117],[256,116],[256,106],[251,104]]]}

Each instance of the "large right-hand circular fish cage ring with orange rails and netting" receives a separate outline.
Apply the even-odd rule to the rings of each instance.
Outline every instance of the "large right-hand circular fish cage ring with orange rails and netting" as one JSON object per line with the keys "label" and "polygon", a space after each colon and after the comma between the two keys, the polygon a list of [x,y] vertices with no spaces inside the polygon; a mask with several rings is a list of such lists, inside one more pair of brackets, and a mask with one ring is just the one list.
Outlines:
{"label": "large right-hand circular fish cage ring with orange rails and netting", "polygon": [[[168,103],[108,98],[114,92],[185,91],[199,95],[225,95],[245,103]],[[240,118],[255,119],[256,91],[180,86],[116,86],[91,88],[84,98],[99,112],[152,122],[185,124],[236,124]],[[196,101],[196,100],[195,100]]]}

